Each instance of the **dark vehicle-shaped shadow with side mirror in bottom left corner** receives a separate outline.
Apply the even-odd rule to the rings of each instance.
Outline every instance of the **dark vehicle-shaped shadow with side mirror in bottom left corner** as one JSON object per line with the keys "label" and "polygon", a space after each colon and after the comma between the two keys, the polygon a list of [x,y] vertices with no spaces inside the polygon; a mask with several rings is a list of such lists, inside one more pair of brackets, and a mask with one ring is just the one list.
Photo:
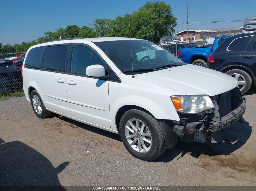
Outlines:
{"label": "dark vehicle-shaped shadow with side mirror in bottom left corner", "polygon": [[58,186],[58,190],[65,190],[57,174],[68,164],[69,162],[64,162],[54,168],[46,157],[20,141],[2,143],[0,144],[0,187]]}

